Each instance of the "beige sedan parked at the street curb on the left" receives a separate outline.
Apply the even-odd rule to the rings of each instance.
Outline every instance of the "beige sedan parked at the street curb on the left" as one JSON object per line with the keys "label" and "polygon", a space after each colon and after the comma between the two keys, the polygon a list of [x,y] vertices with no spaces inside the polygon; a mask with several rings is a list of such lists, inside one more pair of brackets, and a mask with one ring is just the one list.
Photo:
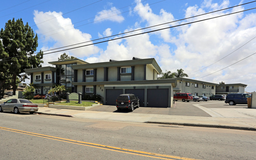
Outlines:
{"label": "beige sedan parked at the street curb on the left", "polygon": [[28,99],[9,99],[0,104],[0,112],[3,111],[11,111],[15,114],[19,112],[29,112],[30,114],[33,114],[38,111],[38,106]]}

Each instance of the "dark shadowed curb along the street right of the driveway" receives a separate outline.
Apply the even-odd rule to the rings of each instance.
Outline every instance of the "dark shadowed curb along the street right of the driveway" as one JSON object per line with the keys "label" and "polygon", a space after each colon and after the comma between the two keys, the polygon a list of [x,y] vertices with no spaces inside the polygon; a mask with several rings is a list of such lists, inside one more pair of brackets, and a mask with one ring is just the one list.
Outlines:
{"label": "dark shadowed curb along the street right of the driveway", "polygon": [[237,130],[246,130],[246,131],[256,131],[256,128],[253,127],[237,127],[237,126],[227,126],[227,125],[209,125],[209,124],[196,124],[196,123],[172,123],[172,122],[155,122],[155,121],[146,121],[144,123],[154,123],[154,124],[164,124],[164,125],[183,125],[191,127],[208,127],[208,128],[222,128],[222,129],[237,129]]}

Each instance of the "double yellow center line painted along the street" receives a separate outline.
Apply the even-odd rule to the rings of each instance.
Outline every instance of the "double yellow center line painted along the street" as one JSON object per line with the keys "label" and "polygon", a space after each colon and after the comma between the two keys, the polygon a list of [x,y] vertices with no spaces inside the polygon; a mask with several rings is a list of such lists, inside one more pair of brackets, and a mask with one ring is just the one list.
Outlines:
{"label": "double yellow center line painted along the street", "polygon": [[170,160],[170,159],[173,159],[173,160],[197,160],[197,159],[191,159],[191,158],[185,158],[185,157],[170,156],[170,155],[165,155],[165,154],[149,153],[149,152],[144,152],[144,151],[136,151],[136,150],[132,150],[132,149],[112,147],[112,146],[101,145],[101,144],[96,144],[96,143],[82,142],[82,141],[77,141],[77,140],[71,140],[71,139],[66,139],[66,138],[49,136],[49,135],[45,135],[45,134],[20,131],[20,130],[16,130],[16,129],[9,129],[9,128],[5,128],[5,127],[0,127],[0,129],[6,130],[6,131],[11,131],[11,132],[22,133],[22,134],[28,134],[28,135],[31,135],[31,136],[37,136],[37,137],[41,137],[41,138],[48,138],[48,139],[51,139],[51,140],[58,140],[58,141],[67,142],[67,143],[84,145],[84,146],[88,146],[88,147],[105,149],[105,150],[109,150],[109,151],[116,151],[116,152],[120,152],[120,153],[134,154],[134,155],[138,155],[138,156],[158,158],[158,159],[163,159],[163,160]]}

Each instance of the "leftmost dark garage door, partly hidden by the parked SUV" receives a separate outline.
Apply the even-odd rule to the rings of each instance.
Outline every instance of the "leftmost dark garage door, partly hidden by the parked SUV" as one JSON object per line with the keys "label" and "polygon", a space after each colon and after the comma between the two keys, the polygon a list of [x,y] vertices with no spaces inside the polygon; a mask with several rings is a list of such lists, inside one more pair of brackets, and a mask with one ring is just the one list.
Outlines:
{"label": "leftmost dark garage door, partly hidden by the parked SUV", "polygon": [[106,105],[116,105],[116,98],[123,94],[123,89],[106,89]]}

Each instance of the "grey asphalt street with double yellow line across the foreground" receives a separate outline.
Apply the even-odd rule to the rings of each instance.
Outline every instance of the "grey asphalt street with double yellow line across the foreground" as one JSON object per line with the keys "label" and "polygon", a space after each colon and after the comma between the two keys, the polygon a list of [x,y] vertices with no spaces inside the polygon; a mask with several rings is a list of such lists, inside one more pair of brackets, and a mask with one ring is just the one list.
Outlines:
{"label": "grey asphalt street with double yellow line across the foreground", "polygon": [[253,160],[256,132],[0,113],[0,159]]}

